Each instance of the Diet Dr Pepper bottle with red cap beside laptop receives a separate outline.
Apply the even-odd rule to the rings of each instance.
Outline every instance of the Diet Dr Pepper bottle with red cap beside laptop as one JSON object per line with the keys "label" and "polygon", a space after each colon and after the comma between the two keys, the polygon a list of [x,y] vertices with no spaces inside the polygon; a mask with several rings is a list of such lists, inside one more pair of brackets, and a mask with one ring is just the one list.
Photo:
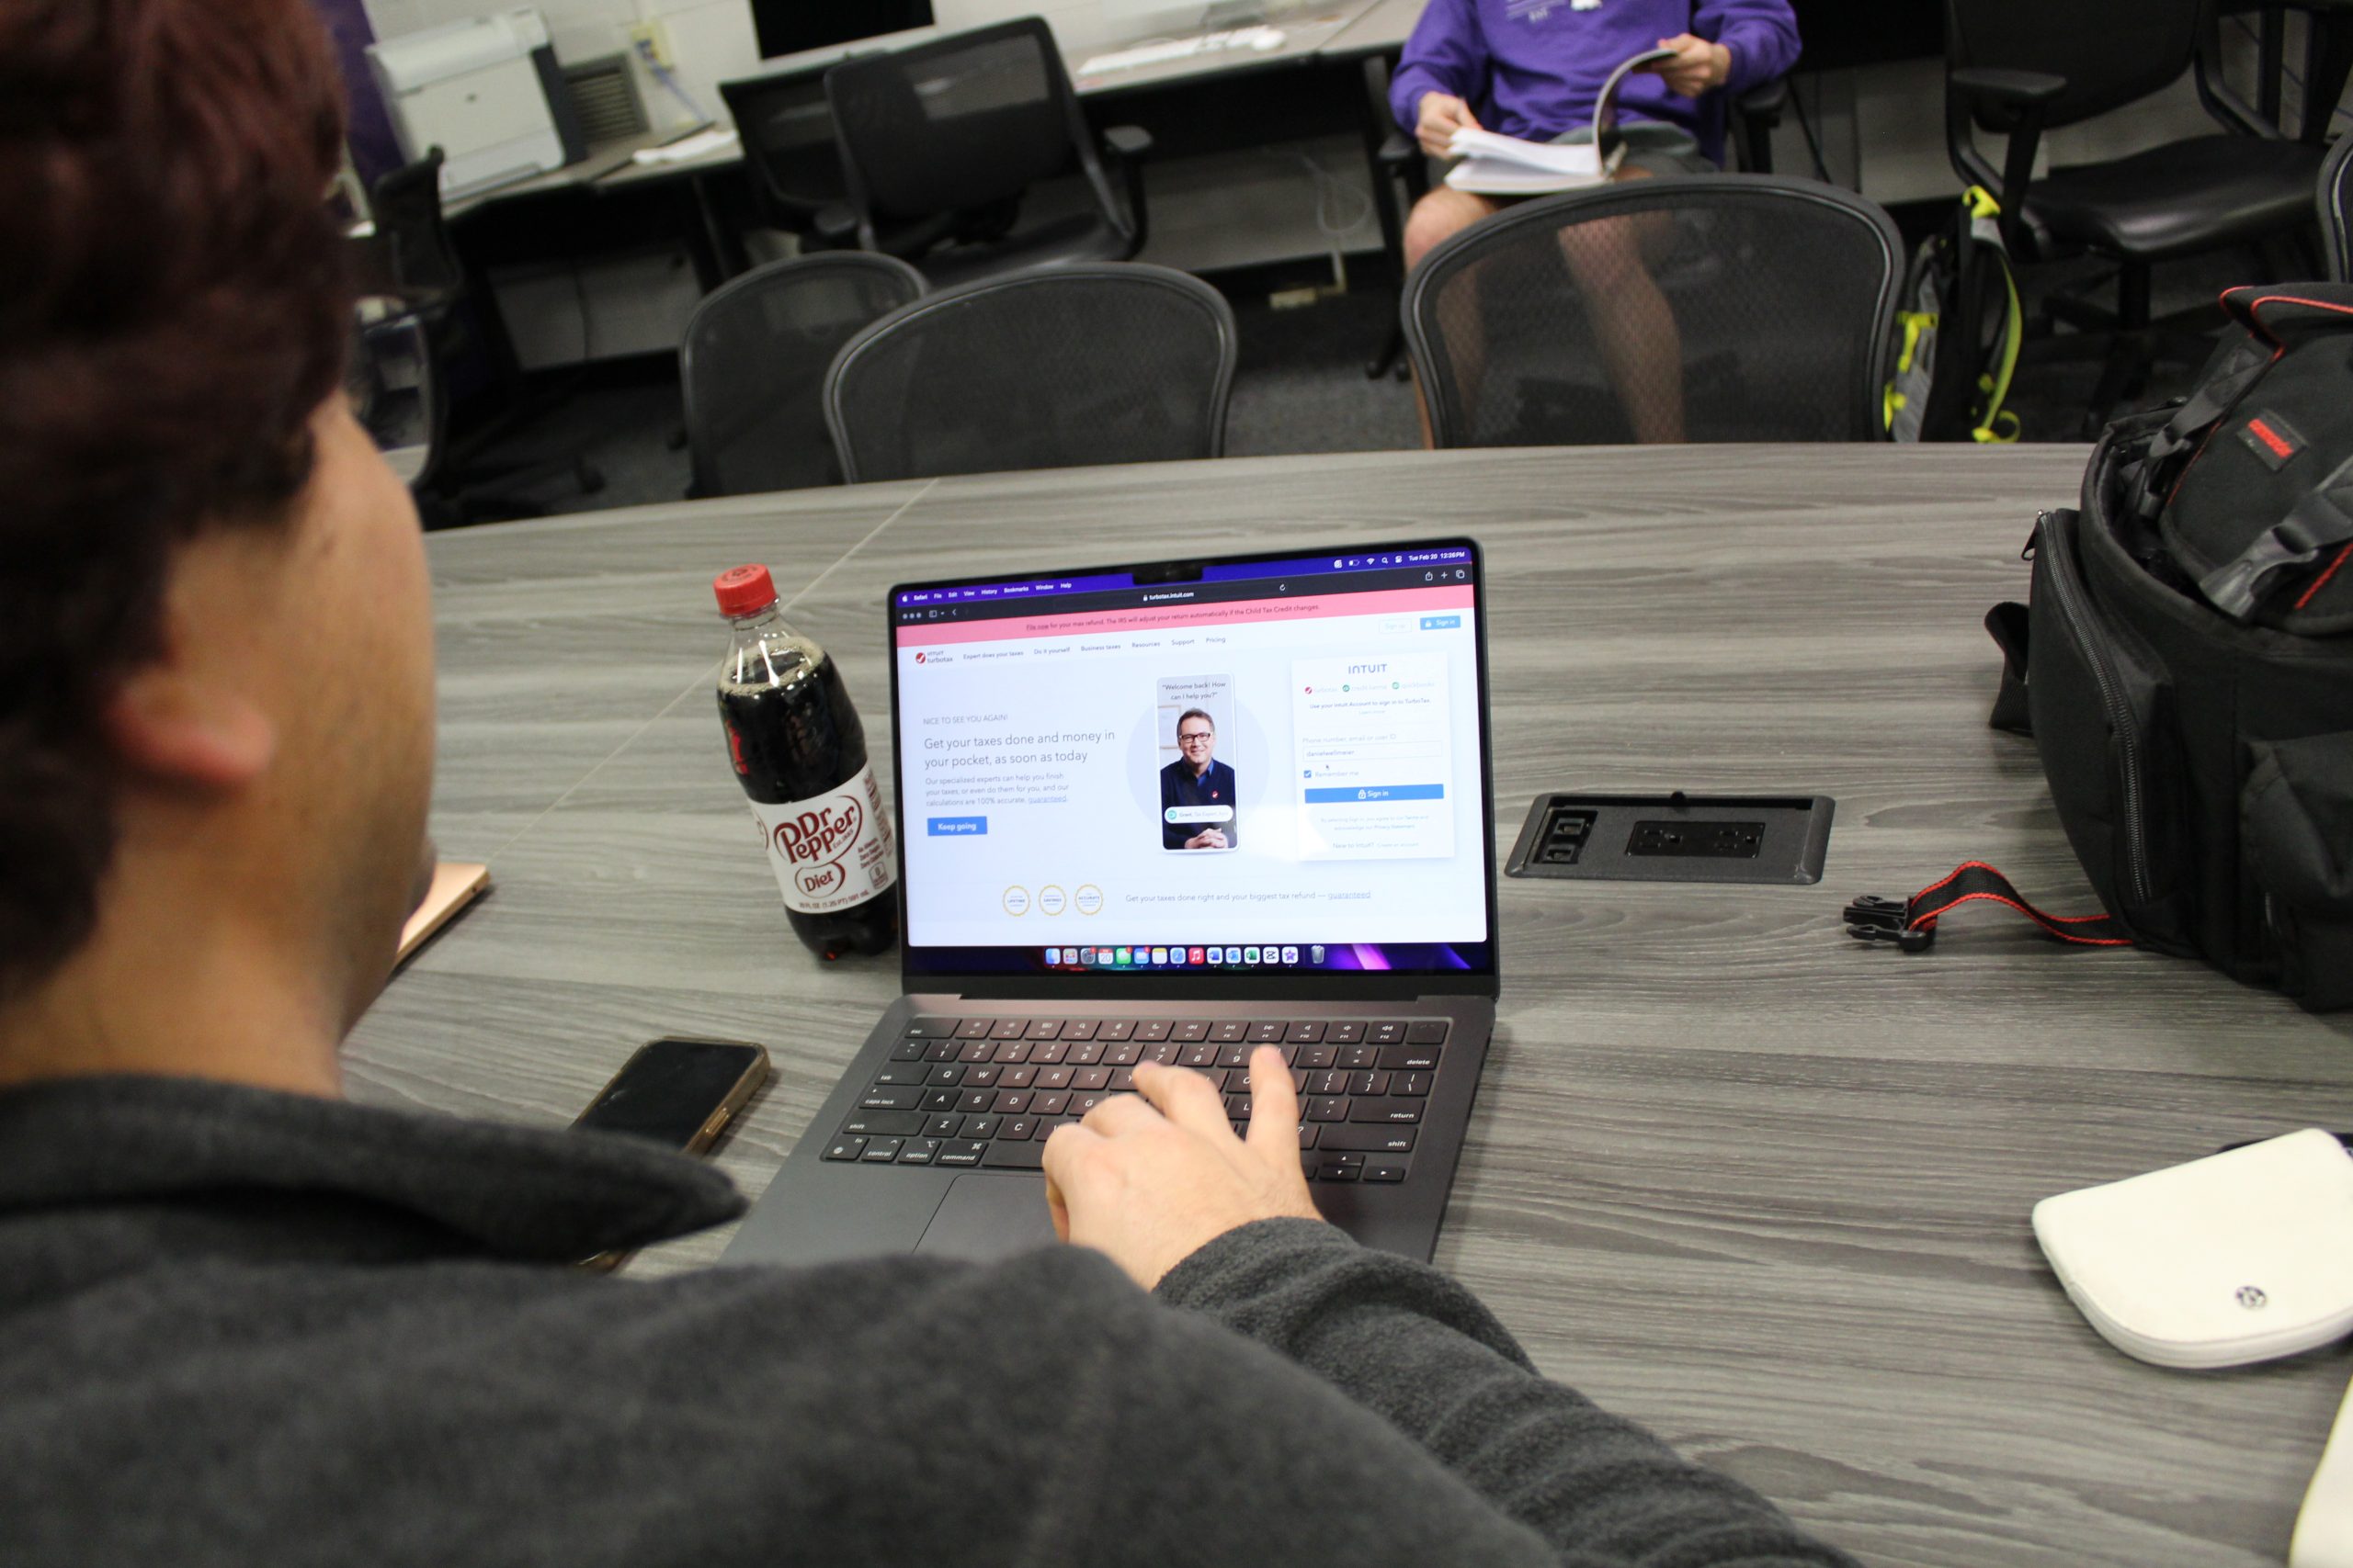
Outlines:
{"label": "Diet Dr Pepper bottle with red cap beside laptop", "polygon": [[734,628],[720,724],[793,931],[821,959],[889,952],[899,863],[866,726],[826,651],[784,623],[767,567],[711,585]]}

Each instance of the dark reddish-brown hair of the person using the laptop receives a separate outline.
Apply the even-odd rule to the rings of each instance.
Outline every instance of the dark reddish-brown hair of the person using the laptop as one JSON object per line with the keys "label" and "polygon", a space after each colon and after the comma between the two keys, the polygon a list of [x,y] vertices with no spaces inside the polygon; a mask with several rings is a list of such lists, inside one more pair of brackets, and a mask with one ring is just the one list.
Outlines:
{"label": "dark reddish-brown hair of the person using the laptop", "polygon": [[341,127],[308,0],[0,0],[0,997],[96,919],[174,548],[311,475]]}

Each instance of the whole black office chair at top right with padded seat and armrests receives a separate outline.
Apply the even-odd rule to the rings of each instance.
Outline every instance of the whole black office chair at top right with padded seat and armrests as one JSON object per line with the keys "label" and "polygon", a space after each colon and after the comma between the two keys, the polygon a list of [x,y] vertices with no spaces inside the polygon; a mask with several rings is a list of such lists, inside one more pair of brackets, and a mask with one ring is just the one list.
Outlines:
{"label": "whole black office chair at top right with padded seat and armrests", "polygon": [[[2327,45],[2311,52],[2325,80],[2306,80],[2306,96],[2334,106],[2353,16],[2327,0],[2289,9],[2308,12]],[[2045,132],[2146,99],[2186,71],[2221,134],[2033,174]],[[2075,296],[2045,301],[2054,322],[2120,334],[2094,418],[2137,390],[2158,348],[2146,334],[2151,263],[2308,235],[2325,127],[2327,113],[2306,115],[2299,139],[2282,136],[2228,87],[2214,0],[1946,0],[1953,167],[2002,205],[2014,259],[2089,252],[2118,268],[2113,310]],[[1977,146],[1979,129],[2007,136],[2000,167]],[[2202,353],[2195,341],[2181,350]]]}

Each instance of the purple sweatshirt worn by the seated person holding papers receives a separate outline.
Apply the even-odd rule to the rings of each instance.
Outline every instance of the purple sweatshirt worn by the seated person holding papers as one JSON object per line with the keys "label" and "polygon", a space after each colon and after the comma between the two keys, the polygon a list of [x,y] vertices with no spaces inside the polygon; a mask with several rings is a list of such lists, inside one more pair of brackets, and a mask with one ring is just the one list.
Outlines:
{"label": "purple sweatshirt worn by the seated person holding papers", "polygon": [[1671,120],[1725,158],[1725,96],[1769,82],[1798,63],[1788,0],[1431,0],[1405,40],[1388,108],[1407,134],[1421,94],[1449,92],[1489,132],[1551,141],[1593,120],[1593,101],[1619,61],[1661,38],[1697,33],[1732,49],[1732,80],[1699,101],[1642,71],[1619,87],[1619,120]]}

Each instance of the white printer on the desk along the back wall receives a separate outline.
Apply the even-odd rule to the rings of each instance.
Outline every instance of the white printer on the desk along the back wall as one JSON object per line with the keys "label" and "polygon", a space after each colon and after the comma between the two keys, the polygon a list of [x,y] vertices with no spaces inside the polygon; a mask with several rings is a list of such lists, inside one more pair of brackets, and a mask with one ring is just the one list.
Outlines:
{"label": "white printer on the desk along the back wall", "polygon": [[588,155],[548,24],[494,12],[367,45],[402,158],[442,150],[440,193],[459,197]]}

